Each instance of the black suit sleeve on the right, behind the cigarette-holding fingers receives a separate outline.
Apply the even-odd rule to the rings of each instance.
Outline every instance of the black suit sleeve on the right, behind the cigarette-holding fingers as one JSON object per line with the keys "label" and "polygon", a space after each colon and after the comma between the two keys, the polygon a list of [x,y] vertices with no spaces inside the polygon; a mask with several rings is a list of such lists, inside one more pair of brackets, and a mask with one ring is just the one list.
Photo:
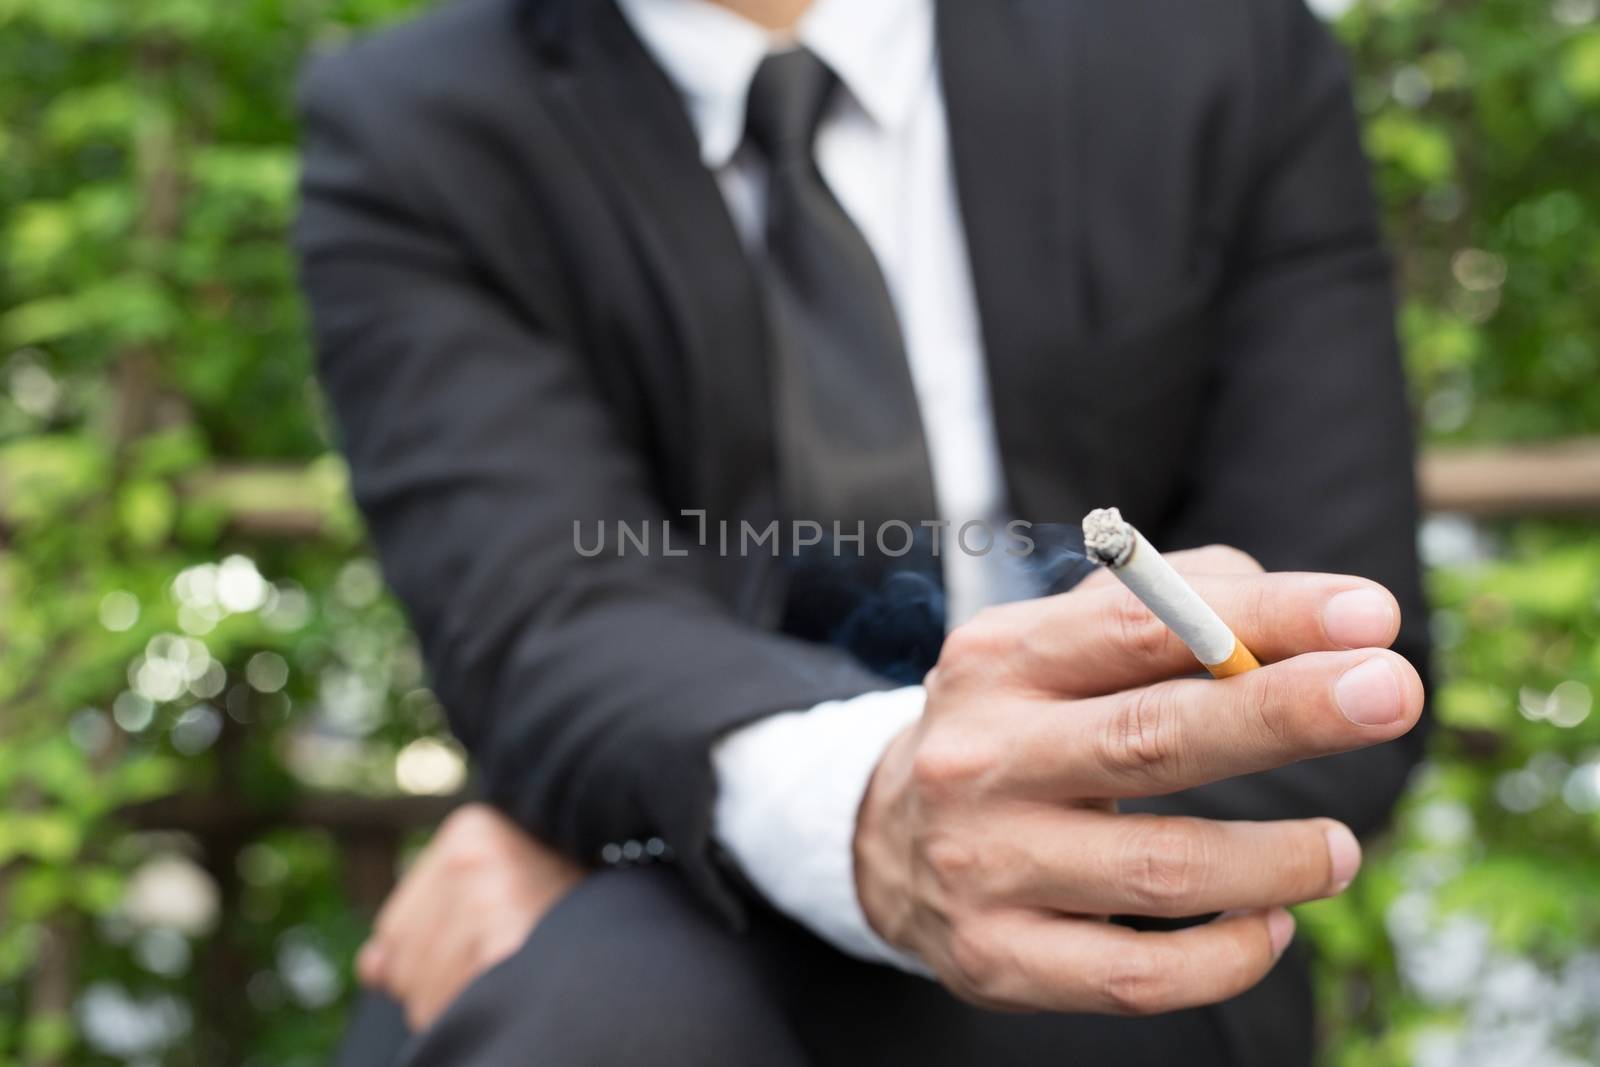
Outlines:
{"label": "black suit sleeve on the right, behind the cigarette-holding fingers", "polygon": [[[1344,59],[1299,0],[1259,5],[1264,136],[1230,250],[1214,403],[1173,544],[1227,542],[1269,569],[1362,574],[1400,601],[1395,645],[1427,678],[1411,424],[1394,298]],[[1326,814],[1381,827],[1421,758],[1395,742],[1152,806]]]}

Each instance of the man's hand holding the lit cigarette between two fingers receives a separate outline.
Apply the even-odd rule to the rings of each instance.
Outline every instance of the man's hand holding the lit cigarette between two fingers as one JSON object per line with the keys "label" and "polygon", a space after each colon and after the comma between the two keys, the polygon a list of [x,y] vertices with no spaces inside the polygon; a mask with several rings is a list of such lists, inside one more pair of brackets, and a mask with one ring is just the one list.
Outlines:
{"label": "man's hand holding the lit cigarette between two fingers", "polygon": [[[1398,737],[1422,681],[1386,651],[1381,585],[1178,553],[1270,665],[1184,678],[1194,656],[1109,579],[950,633],[923,718],[885,752],[856,825],[872,926],[957,995],[1003,1009],[1146,1014],[1254,985],[1294,933],[1285,904],[1339,893],[1360,846],[1331,819],[1117,814],[1154,797]],[[1350,789],[1362,789],[1350,782]],[[1203,926],[1138,933],[1109,915]]]}

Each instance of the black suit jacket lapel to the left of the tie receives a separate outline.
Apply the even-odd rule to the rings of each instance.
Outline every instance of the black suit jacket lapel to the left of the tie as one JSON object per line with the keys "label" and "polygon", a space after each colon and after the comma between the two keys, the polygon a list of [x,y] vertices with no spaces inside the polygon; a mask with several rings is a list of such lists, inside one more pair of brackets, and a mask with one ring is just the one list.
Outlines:
{"label": "black suit jacket lapel to the left of the tie", "polygon": [[619,205],[686,358],[693,506],[760,517],[773,450],[765,320],[693,125],[610,0],[531,8],[552,112]]}

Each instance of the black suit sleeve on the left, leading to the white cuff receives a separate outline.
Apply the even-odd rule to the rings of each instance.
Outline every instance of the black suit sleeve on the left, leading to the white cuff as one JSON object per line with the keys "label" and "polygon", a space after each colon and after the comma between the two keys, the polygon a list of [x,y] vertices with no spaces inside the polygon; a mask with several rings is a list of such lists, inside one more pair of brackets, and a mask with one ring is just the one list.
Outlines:
{"label": "black suit sleeve on the left, leading to the white cuff", "polygon": [[714,741],[888,683],[734,617],[698,555],[576,550],[574,523],[659,537],[648,456],[582,354],[397,181],[341,75],[323,62],[301,94],[302,285],[357,502],[451,726],[526,829],[581,859],[659,837],[736,921],[709,845]]}

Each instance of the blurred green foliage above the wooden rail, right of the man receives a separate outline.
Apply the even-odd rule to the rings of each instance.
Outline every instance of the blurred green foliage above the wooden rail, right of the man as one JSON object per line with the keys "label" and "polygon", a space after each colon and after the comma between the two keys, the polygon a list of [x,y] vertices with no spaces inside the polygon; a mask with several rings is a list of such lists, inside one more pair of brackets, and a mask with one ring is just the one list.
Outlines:
{"label": "blurred green foliage above the wooden rail, right of the man", "polygon": [[1341,22],[1429,435],[1600,426],[1600,26],[1590,0],[1371,0]]}

